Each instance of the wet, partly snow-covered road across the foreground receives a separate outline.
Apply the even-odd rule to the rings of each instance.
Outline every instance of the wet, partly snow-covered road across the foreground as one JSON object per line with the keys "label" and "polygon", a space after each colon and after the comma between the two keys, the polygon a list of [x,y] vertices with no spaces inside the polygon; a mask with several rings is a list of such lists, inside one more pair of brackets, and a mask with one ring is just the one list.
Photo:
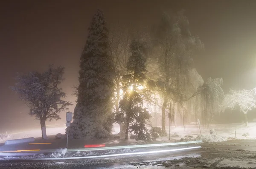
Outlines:
{"label": "wet, partly snow-covered road across the foreground", "polygon": [[180,168],[184,165],[187,169],[190,168],[189,166],[202,168],[208,165],[207,162],[204,162],[206,159],[208,161],[217,159],[214,163],[209,163],[208,168],[216,167],[224,159],[240,159],[241,161],[248,161],[252,165],[255,163],[256,166],[256,140],[229,140],[223,143],[202,144],[201,146],[201,149],[179,152],[111,158],[47,161],[4,160],[0,162],[0,169],[164,169],[166,167]]}

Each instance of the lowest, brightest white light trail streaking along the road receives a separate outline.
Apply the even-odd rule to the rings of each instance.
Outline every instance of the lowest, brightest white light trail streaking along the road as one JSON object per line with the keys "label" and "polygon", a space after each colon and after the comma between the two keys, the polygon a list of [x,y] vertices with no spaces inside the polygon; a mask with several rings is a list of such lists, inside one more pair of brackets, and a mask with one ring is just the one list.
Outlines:
{"label": "lowest, brightest white light trail streaking along the road", "polygon": [[198,148],[201,148],[201,146],[187,147],[187,148],[181,148],[181,149],[157,150],[157,151],[150,151],[150,152],[131,152],[131,153],[122,153],[122,154],[114,154],[114,155],[95,155],[95,156],[85,156],[85,157],[38,158],[33,160],[69,160],[69,159],[86,159],[86,158],[106,158],[106,157],[116,157],[116,156],[122,156],[122,155],[143,155],[143,154],[153,154],[153,153],[160,153],[160,152],[175,152],[175,151],[198,149]]}

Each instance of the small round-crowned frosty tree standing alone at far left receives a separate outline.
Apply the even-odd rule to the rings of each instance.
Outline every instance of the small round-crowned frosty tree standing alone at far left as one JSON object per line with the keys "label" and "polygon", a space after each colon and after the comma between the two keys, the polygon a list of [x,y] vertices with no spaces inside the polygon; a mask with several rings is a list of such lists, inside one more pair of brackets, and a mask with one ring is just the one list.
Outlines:
{"label": "small round-crowned frosty tree standing alone at far left", "polygon": [[46,135],[46,120],[59,120],[59,114],[71,106],[70,102],[62,100],[66,94],[59,87],[64,80],[64,68],[53,68],[52,65],[45,72],[29,72],[28,74],[17,74],[18,81],[12,90],[20,95],[27,106],[29,115],[35,116],[40,120],[42,137]]}

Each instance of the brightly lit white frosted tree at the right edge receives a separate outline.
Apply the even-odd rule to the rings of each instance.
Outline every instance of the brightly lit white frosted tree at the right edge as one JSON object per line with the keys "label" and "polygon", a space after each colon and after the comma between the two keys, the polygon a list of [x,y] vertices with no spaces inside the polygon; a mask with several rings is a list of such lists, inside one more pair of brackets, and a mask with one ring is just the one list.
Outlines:
{"label": "brightly lit white frosted tree at the right edge", "polygon": [[236,106],[239,106],[241,112],[244,113],[245,123],[247,125],[247,112],[256,107],[256,98],[254,94],[254,90],[230,89],[230,93],[224,97],[221,108],[224,111],[227,108],[236,109]]}

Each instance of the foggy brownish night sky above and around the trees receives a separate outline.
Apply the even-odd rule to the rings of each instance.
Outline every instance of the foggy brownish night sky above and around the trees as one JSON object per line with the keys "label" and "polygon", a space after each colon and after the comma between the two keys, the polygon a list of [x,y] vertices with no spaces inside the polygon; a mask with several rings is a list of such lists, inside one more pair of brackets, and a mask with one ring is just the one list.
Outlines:
{"label": "foggy brownish night sky above and around the trees", "polygon": [[[9,89],[15,72],[64,66],[67,100],[78,85],[79,59],[96,9],[108,23],[151,26],[162,11],[185,9],[190,30],[205,50],[194,57],[206,80],[222,77],[224,90],[256,87],[255,0],[2,0],[0,1],[0,133],[39,126]],[[73,112],[71,107],[70,111]],[[63,120],[65,123],[65,112]],[[54,122],[53,122],[54,123]]]}

